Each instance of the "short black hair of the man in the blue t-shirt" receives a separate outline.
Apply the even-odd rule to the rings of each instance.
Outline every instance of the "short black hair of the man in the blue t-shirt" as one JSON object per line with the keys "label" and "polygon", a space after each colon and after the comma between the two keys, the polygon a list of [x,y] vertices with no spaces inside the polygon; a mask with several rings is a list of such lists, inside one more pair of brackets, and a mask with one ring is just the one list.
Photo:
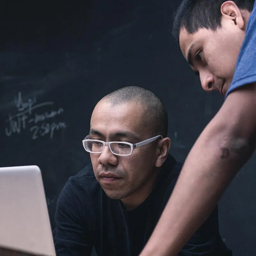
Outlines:
{"label": "short black hair of the man in the blue t-shirt", "polygon": [[[216,30],[221,26],[220,8],[227,0],[183,0],[173,20],[172,35],[179,42],[180,29],[193,34],[199,28]],[[241,10],[253,9],[254,0],[233,0]]]}

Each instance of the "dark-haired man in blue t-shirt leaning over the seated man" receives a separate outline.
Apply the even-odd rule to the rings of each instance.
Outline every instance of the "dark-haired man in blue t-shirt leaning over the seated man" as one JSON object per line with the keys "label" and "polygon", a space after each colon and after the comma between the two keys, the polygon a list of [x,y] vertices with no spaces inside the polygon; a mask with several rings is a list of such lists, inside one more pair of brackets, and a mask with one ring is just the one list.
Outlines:
{"label": "dark-haired man in blue t-shirt leaning over the seated man", "polygon": [[183,0],[173,32],[203,89],[219,91],[225,102],[191,149],[140,256],[176,256],[256,144],[254,0]]}

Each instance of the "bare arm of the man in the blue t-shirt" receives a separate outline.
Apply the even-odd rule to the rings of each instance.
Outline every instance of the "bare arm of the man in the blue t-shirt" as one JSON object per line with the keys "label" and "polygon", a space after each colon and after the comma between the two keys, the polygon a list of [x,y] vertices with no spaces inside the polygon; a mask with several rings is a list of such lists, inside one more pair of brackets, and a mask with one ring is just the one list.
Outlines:
{"label": "bare arm of the man in the blue t-shirt", "polygon": [[256,83],[228,95],[201,133],[140,256],[178,254],[251,157],[255,135]]}

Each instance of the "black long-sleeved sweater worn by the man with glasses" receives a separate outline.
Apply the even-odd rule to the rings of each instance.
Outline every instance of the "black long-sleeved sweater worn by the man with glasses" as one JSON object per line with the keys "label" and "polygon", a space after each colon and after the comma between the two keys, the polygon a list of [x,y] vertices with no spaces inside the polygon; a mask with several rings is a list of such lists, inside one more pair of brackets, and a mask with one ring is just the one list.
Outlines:
{"label": "black long-sleeved sweater worn by the man with glasses", "polygon": [[[70,177],[57,202],[53,232],[58,256],[137,256],[152,234],[172,193],[182,164],[168,156],[156,186],[137,208],[126,211],[96,180],[92,164]],[[197,230],[179,256],[232,255],[223,244],[218,209]]]}

